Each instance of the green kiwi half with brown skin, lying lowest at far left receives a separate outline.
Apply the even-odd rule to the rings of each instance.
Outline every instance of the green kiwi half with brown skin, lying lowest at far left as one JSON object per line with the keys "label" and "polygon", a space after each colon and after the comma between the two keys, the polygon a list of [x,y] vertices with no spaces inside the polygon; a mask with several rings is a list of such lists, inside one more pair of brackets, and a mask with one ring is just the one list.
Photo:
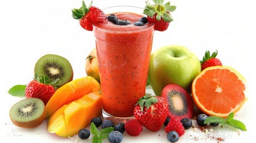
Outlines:
{"label": "green kiwi half with brown skin, lying lowest at far left", "polygon": [[39,98],[25,98],[10,109],[10,119],[21,128],[35,128],[44,121],[45,105]]}

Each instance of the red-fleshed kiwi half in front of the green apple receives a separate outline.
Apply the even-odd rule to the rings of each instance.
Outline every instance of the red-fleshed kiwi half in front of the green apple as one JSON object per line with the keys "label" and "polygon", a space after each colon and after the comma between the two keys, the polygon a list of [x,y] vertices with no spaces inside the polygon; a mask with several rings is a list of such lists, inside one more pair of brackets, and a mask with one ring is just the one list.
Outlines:
{"label": "red-fleshed kiwi half in front of the green apple", "polygon": [[179,85],[166,85],[162,91],[161,97],[168,102],[168,117],[175,117],[181,120],[185,117],[193,116],[193,99],[189,93]]}

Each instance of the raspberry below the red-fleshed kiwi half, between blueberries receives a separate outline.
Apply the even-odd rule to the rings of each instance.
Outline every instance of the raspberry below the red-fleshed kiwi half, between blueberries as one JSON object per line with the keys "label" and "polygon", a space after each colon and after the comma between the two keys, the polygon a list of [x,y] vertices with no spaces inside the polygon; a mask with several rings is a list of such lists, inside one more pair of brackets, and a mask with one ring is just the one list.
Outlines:
{"label": "raspberry below the red-fleshed kiwi half, between blueberries", "polygon": [[175,130],[178,133],[179,136],[182,136],[185,133],[184,126],[182,125],[180,120],[177,120],[177,119],[175,119],[173,117],[171,118],[171,120],[168,123],[168,125],[165,127],[165,132],[169,133],[172,130]]}

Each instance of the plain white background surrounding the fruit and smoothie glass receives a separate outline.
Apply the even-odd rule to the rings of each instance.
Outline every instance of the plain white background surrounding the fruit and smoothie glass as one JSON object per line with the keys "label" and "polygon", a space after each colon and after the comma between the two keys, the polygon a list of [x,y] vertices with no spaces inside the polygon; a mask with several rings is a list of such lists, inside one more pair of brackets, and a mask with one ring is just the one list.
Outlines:
{"label": "plain white background surrounding the fruit and smoothie glass", "polygon": [[[85,0],[87,4],[90,2]],[[167,1],[166,1],[167,2]],[[152,52],[165,45],[183,45],[202,59],[206,49],[218,50],[224,66],[233,67],[248,82],[248,101],[236,114],[236,119],[248,128],[236,141],[243,141],[254,130],[255,69],[255,4],[245,0],[172,0],[177,6],[174,21],[165,32],[155,32]],[[81,7],[82,0],[12,0],[1,1],[1,122],[2,139],[20,142],[72,142],[47,132],[44,122],[36,129],[21,129],[10,123],[10,107],[20,100],[9,95],[14,85],[27,84],[33,77],[36,61],[45,54],[58,54],[73,66],[74,79],[86,76],[85,58],[95,47],[94,36],[79,26],[71,16],[72,8]],[[103,1],[93,5],[106,8],[113,5],[144,7],[144,0]],[[159,136],[158,136],[159,134]],[[160,135],[161,134],[161,135]],[[155,135],[155,136],[154,136]],[[165,133],[143,131],[141,136],[125,135],[124,142],[168,142]],[[88,141],[90,142],[90,141]],[[181,138],[179,142],[186,142]],[[233,142],[233,139],[226,142]]]}

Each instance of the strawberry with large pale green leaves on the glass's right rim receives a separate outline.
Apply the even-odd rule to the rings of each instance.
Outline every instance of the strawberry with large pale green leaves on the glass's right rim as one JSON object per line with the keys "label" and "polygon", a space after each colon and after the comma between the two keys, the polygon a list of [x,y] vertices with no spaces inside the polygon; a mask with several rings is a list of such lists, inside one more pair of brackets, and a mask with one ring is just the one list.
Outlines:
{"label": "strawberry with large pale green leaves on the glass's right rim", "polygon": [[170,5],[170,2],[164,4],[162,0],[155,0],[153,3],[151,4],[150,1],[146,1],[146,7],[143,13],[147,15],[149,23],[155,24],[155,30],[165,31],[168,29],[169,23],[173,20],[170,13],[176,7]]}

